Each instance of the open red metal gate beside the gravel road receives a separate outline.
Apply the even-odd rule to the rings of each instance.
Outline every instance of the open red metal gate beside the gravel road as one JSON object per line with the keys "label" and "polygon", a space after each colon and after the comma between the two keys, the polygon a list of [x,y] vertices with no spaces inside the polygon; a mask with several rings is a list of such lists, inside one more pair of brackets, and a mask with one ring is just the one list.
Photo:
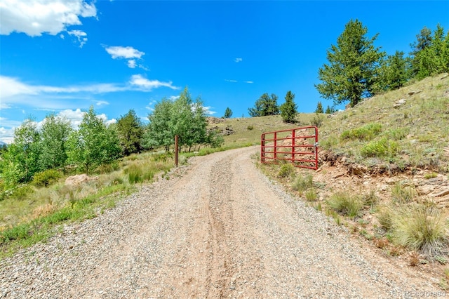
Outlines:
{"label": "open red metal gate beside the gravel road", "polygon": [[263,133],[260,142],[262,163],[291,161],[295,166],[318,169],[318,128],[304,126]]}

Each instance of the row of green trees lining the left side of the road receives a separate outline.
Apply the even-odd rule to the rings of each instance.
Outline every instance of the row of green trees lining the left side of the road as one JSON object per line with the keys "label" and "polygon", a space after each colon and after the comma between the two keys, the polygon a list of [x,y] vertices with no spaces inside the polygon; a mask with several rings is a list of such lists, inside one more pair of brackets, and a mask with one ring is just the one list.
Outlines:
{"label": "row of green trees lining the left side of the road", "polygon": [[148,115],[144,125],[133,109],[115,124],[106,124],[93,107],[83,113],[78,129],[64,117],[49,114],[38,128],[27,119],[15,129],[11,145],[0,152],[3,188],[29,182],[36,173],[64,170],[68,166],[84,173],[119,157],[163,147],[167,151],[179,135],[180,149],[194,145],[222,145],[222,136],[206,129],[206,111],[201,98],[192,100],[185,88],[177,100],[164,98]]}

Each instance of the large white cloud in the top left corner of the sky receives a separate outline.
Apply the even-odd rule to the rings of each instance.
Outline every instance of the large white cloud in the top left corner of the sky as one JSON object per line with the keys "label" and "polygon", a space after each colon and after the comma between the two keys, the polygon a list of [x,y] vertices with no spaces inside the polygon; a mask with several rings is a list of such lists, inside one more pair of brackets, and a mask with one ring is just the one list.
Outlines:
{"label": "large white cloud in the top left corner of the sky", "polygon": [[0,34],[4,35],[56,35],[72,25],[82,25],[79,17],[97,16],[95,4],[85,0],[4,0],[0,2],[0,11]]}

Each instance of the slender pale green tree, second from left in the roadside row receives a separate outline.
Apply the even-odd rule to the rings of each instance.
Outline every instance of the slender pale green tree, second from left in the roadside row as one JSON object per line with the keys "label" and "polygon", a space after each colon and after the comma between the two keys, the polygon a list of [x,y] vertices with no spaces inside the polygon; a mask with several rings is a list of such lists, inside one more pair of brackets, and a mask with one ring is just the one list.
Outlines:
{"label": "slender pale green tree, second from left in the roadside row", "polygon": [[66,143],[72,132],[70,121],[62,117],[49,114],[43,120],[41,129],[41,169],[65,166],[67,161]]}

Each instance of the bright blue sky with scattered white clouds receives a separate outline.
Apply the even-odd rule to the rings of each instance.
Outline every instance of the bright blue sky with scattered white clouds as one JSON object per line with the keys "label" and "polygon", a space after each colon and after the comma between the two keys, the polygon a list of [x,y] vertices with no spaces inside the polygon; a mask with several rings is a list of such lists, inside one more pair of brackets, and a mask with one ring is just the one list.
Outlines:
{"label": "bright blue sky with scattered white clouds", "polygon": [[0,140],[28,117],[95,111],[142,120],[189,88],[211,115],[248,117],[263,93],[313,112],[326,50],[358,19],[388,54],[422,27],[449,29],[449,1],[0,1]]}

